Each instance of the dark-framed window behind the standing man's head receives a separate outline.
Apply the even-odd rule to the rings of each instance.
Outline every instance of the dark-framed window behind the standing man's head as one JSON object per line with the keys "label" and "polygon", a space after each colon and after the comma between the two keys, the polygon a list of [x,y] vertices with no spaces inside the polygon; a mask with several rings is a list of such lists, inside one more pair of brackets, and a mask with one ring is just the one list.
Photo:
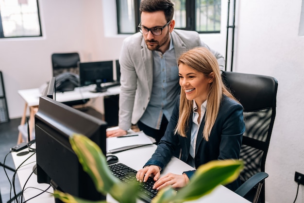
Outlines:
{"label": "dark-framed window behind the standing man's head", "polygon": [[[199,33],[220,33],[220,0],[172,0],[175,28]],[[118,34],[137,32],[140,0],[117,0]],[[132,8],[131,8],[132,7]],[[135,12],[136,11],[136,12]],[[132,21],[129,21],[131,20]],[[128,27],[125,31],[124,26]]]}

